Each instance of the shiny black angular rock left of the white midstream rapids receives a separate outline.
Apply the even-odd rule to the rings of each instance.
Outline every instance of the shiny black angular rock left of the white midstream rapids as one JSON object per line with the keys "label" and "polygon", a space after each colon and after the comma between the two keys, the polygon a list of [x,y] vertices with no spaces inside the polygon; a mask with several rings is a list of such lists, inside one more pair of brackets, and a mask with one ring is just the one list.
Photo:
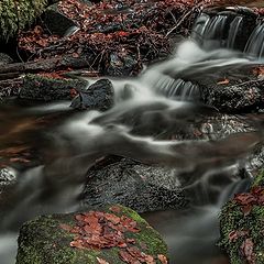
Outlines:
{"label": "shiny black angular rock left of the white midstream rapids", "polygon": [[108,79],[100,79],[79,90],[79,95],[73,100],[70,107],[75,109],[108,110],[113,106],[113,86]]}

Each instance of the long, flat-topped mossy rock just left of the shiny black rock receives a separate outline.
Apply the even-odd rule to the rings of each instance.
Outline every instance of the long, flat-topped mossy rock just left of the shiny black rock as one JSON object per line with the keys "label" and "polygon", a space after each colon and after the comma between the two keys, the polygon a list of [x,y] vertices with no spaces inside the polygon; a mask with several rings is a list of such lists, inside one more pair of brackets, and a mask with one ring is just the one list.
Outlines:
{"label": "long, flat-topped mossy rock just left of the shiny black rock", "polygon": [[26,75],[20,90],[22,99],[53,101],[72,99],[72,89],[84,89],[84,80],[53,79],[40,75]]}

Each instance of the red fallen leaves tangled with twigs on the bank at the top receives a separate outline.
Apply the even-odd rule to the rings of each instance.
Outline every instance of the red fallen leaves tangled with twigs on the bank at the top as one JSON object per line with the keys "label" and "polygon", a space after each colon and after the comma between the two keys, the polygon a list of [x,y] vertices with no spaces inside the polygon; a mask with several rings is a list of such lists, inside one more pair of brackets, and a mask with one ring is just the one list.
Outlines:
{"label": "red fallen leaves tangled with twigs on the bank at the top", "polygon": [[58,3],[58,8],[79,26],[79,31],[59,37],[37,24],[21,32],[19,48],[28,54],[29,59],[81,56],[89,61],[90,70],[105,73],[112,63],[111,56],[116,56],[117,63],[130,56],[135,64],[132,74],[139,73],[142,64],[169,54],[172,43],[168,35],[188,34],[198,11],[194,0],[113,0],[92,6],[80,0],[65,0]]}

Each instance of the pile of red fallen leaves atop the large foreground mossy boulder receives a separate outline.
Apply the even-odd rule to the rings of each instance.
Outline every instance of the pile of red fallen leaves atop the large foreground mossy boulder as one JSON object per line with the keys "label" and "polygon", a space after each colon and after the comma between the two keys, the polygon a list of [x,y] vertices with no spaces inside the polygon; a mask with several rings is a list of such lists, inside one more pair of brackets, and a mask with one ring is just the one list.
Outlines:
{"label": "pile of red fallen leaves atop the large foreground mossy boulder", "polygon": [[[120,212],[119,207],[111,207],[111,211]],[[61,228],[75,234],[72,248],[103,250],[119,249],[119,257],[129,264],[166,264],[166,256],[160,254],[153,256],[142,252],[147,245],[141,243],[141,249],[131,233],[141,232],[136,221],[125,216],[102,211],[89,211],[75,216],[76,226],[61,224]],[[108,264],[106,260],[97,257],[99,264]]]}

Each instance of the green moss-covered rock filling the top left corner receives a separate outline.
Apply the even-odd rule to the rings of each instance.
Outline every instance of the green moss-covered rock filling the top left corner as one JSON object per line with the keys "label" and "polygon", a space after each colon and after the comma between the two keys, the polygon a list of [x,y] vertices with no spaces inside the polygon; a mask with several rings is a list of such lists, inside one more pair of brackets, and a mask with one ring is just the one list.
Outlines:
{"label": "green moss-covered rock filling the top left corner", "polygon": [[40,15],[47,0],[1,0],[0,38],[8,41]]}

